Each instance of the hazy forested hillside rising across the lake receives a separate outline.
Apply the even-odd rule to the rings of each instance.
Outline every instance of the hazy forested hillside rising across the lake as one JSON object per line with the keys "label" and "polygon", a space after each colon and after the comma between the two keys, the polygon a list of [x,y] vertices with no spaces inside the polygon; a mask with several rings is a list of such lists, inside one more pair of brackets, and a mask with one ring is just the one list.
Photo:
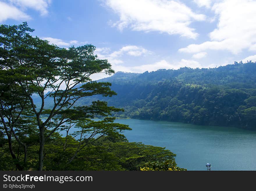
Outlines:
{"label": "hazy forested hillside rising across the lake", "polygon": [[[93,99],[122,107],[119,117],[168,120],[200,125],[237,126],[256,130],[256,63],[218,68],[159,69],[143,74],[117,72],[113,97]],[[83,99],[87,104],[92,99]]]}

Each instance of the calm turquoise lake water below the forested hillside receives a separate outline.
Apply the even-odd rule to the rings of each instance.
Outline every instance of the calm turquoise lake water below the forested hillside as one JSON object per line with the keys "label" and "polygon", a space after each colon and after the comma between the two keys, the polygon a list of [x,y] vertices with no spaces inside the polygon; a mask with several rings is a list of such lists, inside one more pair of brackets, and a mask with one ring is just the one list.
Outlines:
{"label": "calm turquoise lake water below the forested hillside", "polygon": [[128,124],[129,142],[166,147],[177,154],[176,163],[187,170],[256,170],[256,131],[233,127],[117,119]]}

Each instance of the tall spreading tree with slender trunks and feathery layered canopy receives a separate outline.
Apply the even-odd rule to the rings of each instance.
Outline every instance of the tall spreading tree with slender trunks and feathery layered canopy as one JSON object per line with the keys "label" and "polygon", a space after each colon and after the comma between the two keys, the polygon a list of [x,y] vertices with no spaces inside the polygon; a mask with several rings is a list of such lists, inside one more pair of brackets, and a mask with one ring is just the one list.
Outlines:
{"label": "tall spreading tree with slender trunks and feathery layered canopy", "polygon": [[[110,83],[90,79],[92,74],[114,73],[107,60],[94,55],[95,47],[60,48],[31,36],[33,31],[26,22],[0,26],[0,128],[19,170],[26,166],[27,149],[32,145],[39,145],[38,170],[43,169],[45,143],[58,130],[65,130],[68,137],[71,127],[78,129],[73,136],[80,136],[79,145],[71,162],[94,137],[121,136],[122,130],[130,129],[111,117],[122,109],[104,101],[75,106],[82,97],[116,94]],[[40,104],[35,105],[34,95],[40,97]],[[50,109],[45,109],[47,97],[53,100]],[[96,117],[100,120],[91,120]],[[13,139],[19,144],[15,151]]]}

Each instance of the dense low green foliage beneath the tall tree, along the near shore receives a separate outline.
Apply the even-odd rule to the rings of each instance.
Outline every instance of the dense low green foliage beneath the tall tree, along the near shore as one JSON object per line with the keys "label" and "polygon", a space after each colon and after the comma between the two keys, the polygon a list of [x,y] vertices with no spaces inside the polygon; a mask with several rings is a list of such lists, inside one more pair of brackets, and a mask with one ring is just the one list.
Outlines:
{"label": "dense low green foliage beneath the tall tree, along the near shore", "polygon": [[[15,170],[8,153],[8,140],[0,136],[0,170]],[[34,138],[32,138],[34,139]],[[25,170],[36,170],[38,164],[37,150],[39,145],[29,148],[27,165]],[[102,137],[96,141],[91,140],[87,147],[81,149],[76,158],[71,162],[69,159],[77,151],[79,140],[68,136],[66,138],[55,133],[45,144],[44,170],[140,170],[149,163],[169,161],[177,167],[175,154],[162,147],[144,145],[139,142],[128,142],[123,137]],[[14,151],[19,149],[22,156],[23,149],[14,141]],[[168,163],[169,163],[168,162]]]}

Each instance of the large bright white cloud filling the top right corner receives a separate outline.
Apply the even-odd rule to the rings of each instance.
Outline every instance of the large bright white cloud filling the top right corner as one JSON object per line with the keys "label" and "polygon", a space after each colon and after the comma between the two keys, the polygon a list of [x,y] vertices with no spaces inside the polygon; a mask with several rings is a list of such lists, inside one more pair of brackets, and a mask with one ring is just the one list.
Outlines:
{"label": "large bright white cloud filling the top right corner", "polygon": [[217,28],[209,33],[210,41],[190,44],[181,52],[197,53],[210,50],[227,50],[233,54],[243,49],[256,48],[256,1],[223,0],[212,7],[218,16]]}

